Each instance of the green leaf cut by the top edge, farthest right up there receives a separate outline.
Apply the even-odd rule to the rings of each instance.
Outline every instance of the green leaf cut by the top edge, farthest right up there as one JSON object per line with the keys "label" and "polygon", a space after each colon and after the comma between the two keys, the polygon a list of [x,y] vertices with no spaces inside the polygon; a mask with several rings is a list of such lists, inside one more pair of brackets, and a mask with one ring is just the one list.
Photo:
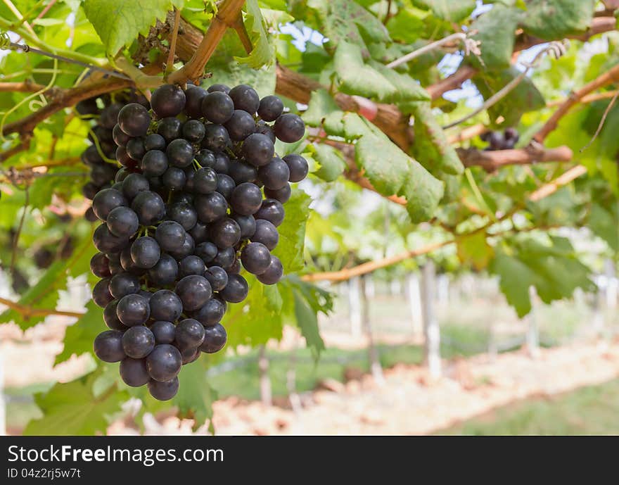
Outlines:
{"label": "green leaf cut by the top edge, farthest right up there", "polygon": [[527,34],[545,40],[563,39],[585,32],[596,0],[531,0],[527,2],[521,25]]}

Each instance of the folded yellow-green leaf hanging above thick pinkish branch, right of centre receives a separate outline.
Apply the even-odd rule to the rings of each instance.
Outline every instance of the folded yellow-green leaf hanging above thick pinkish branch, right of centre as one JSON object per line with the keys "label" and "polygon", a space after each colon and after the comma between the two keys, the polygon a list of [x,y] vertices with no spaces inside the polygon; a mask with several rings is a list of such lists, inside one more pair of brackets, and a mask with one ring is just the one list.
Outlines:
{"label": "folded yellow-green leaf hanging above thick pinkish branch, right of centre", "polygon": [[464,165],[454,147],[449,144],[445,132],[432,113],[430,103],[416,103],[413,115],[415,117],[415,143],[413,153],[424,167],[433,175],[437,170],[449,175],[461,175]]}

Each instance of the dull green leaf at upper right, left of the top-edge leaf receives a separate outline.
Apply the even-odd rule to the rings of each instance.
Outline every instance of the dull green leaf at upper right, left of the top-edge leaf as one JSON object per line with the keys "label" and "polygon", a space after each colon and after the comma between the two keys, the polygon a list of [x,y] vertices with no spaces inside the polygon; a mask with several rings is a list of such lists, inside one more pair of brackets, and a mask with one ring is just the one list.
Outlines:
{"label": "dull green leaf at upper right, left of the top-edge leaf", "polygon": [[519,8],[495,5],[471,24],[471,30],[478,31],[473,39],[481,42],[481,59],[469,56],[473,66],[487,70],[509,68],[515,39],[513,32],[521,12]]}

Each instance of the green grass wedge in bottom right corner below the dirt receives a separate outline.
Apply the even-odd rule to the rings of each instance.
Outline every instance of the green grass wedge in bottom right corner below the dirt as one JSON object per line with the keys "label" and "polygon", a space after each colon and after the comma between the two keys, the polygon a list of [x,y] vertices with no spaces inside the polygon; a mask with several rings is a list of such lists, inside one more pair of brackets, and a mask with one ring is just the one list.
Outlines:
{"label": "green grass wedge in bottom right corner below the dirt", "polygon": [[507,405],[437,434],[619,434],[619,379]]}

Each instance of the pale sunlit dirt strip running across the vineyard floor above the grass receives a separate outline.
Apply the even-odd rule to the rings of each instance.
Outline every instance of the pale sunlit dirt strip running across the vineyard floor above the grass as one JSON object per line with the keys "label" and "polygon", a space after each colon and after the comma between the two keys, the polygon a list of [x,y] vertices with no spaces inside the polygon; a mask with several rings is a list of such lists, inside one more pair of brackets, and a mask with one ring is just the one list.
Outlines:
{"label": "pale sunlit dirt strip running across the vineyard floor above the grass", "polygon": [[[432,379],[423,367],[398,365],[378,384],[369,375],[347,384],[324,382],[299,396],[296,411],[236,398],[214,405],[217,434],[429,434],[513,401],[551,396],[619,376],[619,341],[597,341],[444,363],[445,377]],[[189,434],[191,420],[146,419],[147,434]],[[135,434],[116,422],[109,434]],[[208,434],[208,427],[198,429]]]}

